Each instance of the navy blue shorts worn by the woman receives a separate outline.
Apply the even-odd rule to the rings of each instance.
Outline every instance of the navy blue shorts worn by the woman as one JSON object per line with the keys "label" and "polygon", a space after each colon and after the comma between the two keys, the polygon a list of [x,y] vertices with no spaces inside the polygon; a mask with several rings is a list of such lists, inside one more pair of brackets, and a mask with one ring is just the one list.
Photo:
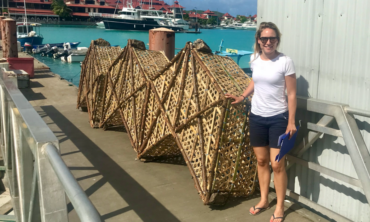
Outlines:
{"label": "navy blue shorts worn by the woman", "polygon": [[280,135],[286,132],[289,111],[272,117],[261,117],[252,112],[249,114],[249,137],[252,147],[278,148],[277,142]]}

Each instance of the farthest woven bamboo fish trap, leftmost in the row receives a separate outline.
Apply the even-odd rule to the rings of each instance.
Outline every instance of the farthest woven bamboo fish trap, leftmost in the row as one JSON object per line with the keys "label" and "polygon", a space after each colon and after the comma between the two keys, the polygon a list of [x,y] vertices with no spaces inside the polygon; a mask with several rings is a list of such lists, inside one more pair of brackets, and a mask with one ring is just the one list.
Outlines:
{"label": "farthest woven bamboo fish trap, leftmost in the row", "polygon": [[77,96],[77,108],[88,111],[90,125],[94,128],[97,128],[100,122],[107,72],[111,71],[112,63],[121,54],[121,47],[101,46],[107,45],[104,44],[106,41],[102,41],[91,41],[81,65]]}

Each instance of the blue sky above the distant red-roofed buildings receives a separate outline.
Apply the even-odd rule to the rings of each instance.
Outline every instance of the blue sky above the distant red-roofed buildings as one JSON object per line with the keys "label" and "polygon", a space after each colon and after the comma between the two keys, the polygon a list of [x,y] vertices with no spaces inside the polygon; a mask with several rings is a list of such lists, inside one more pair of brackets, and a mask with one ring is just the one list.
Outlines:
{"label": "blue sky above the distant red-roofed buildings", "polygon": [[[173,0],[164,0],[170,6]],[[257,14],[257,0],[178,0],[181,6],[186,7],[185,10],[192,10],[197,7],[199,10],[211,10],[228,12],[232,16],[247,14]],[[198,12],[199,13],[199,12]]]}

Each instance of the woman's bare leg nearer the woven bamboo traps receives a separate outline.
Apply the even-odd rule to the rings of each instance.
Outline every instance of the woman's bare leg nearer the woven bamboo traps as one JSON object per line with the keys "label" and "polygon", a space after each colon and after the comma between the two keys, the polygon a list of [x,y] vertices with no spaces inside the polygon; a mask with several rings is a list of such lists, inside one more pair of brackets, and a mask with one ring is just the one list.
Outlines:
{"label": "woman's bare leg nearer the woven bamboo traps", "polygon": [[[266,208],[269,206],[269,187],[271,180],[270,147],[253,147],[253,150],[258,162],[258,181],[261,189],[261,201],[255,206],[255,208]],[[259,209],[254,211],[253,207],[249,210],[252,214],[256,214],[259,211]]]}

